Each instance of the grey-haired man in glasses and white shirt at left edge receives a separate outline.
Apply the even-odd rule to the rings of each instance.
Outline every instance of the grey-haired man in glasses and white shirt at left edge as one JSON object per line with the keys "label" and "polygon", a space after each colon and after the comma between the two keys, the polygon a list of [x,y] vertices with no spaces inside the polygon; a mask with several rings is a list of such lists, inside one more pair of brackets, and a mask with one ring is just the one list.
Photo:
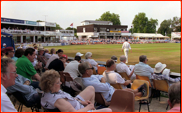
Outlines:
{"label": "grey-haired man in glasses and white shirt at left edge", "polygon": [[1,112],[17,112],[6,94],[6,88],[15,84],[15,62],[10,58],[1,58]]}

